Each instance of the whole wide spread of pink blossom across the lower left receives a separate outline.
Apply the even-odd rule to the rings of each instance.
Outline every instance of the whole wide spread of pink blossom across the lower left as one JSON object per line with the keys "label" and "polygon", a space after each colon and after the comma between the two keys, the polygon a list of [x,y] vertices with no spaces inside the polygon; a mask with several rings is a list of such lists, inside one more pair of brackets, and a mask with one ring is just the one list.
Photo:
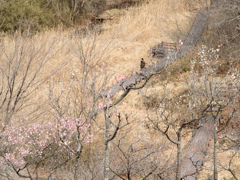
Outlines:
{"label": "whole wide spread of pink blossom across the lower left", "polygon": [[88,134],[89,127],[90,125],[83,123],[80,118],[58,118],[54,123],[33,123],[28,126],[24,122],[21,125],[5,126],[0,133],[1,148],[5,149],[3,156],[8,163],[21,168],[28,161],[44,159],[44,156],[53,150],[52,145],[59,147],[59,153],[67,153],[69,149],[63,146],[63,141],[75,149],[77,133],[80,134],[83,144],[92,143],[93,136]]}

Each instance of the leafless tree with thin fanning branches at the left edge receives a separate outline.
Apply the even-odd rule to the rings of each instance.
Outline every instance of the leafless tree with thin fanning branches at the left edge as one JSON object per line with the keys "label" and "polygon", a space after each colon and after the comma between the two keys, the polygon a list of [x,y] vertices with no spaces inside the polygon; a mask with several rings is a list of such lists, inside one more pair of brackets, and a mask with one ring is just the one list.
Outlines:
{"label": "leafless tree with thin fanning branches at the left edge", "polygon": [[[24,38],[16,33],[11,44],[1,43],[0,63],[0,111],[1,124],[9,124],[13,115],[24,112],[24,117],[41,114],[35,113],[37,101],[33,101],[34,92],[51,76],[55,70],[48,66],[49,60],[58,52],[57,38],[48,42],[36,43],[34,38]],[[61,47],[60,47],[61,48]],[[50,70],[50,71],[49,71]],[[48,73],[49,71],[50,73]],[[32,111],[25,111],[26,108]]]}

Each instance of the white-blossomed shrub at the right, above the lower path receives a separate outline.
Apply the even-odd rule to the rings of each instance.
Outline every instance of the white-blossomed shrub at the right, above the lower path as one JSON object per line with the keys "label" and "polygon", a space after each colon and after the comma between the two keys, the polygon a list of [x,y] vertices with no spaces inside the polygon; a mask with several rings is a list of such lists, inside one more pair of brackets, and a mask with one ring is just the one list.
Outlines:
{"label": "white-blossomed shrub at the right, above the lower path", "polygon": [[[221,108],[221,111],[224,109],[226,116],[229,116],[232,108],[237,107],[240,74],[237,64],[221,59],[221,54],[221,45],[216,49],[202,45],[198,56],[191,61],[187,80],[191,91],[189,104],[201,109],[210,103],[215,111],[217,108]],[[222,64],[224,61],[229,63],[227,67]]]}

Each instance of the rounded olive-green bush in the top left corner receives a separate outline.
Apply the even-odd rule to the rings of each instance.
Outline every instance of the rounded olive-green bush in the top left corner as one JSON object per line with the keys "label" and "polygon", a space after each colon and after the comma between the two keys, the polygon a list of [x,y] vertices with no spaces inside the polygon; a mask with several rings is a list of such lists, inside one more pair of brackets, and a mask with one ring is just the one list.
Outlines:
{"label": "rounded olive-green bush in the top left corner", "polygon": [[0,30],[4,32],[40,31],[50,26],[52,15],[39,0],[0,1]]}

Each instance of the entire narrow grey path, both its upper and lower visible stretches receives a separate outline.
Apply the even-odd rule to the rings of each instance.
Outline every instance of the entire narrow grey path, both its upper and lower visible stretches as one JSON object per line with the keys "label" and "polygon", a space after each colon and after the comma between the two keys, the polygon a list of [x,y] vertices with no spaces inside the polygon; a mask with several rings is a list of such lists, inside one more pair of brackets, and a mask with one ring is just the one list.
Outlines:
{"label": "entire narrow grey path, both its upper and lower visible stretches", "polygon": [[[207,8],[200,9],[192,24],[191,30],[183,41],[183,45],[177,52],[166,54],[166,56],[161,61],[158,61],[156,64],[147,67],[143,70],[142,73],[136,73],[130,77],[127,77],[124,81],[112,85],[111,87],[102,91],[101,96],[110,95],[112,97],[121,90],[126,91],[129,87],[143,82],[144,79],[147,79],[151,75],[161,73],[161,71],[175,62],[177,59],[192,51],[200,39],[208,17],[209,11]],[[197,179],[199,172],[204,164],[209,143],[213,137],[214,126],[213,119],[208,114],[205,114],[203,121],[203,125],[197,129],[197,132],[191,144],[186,150],[183,151],[181,169],[182,179]]]}

